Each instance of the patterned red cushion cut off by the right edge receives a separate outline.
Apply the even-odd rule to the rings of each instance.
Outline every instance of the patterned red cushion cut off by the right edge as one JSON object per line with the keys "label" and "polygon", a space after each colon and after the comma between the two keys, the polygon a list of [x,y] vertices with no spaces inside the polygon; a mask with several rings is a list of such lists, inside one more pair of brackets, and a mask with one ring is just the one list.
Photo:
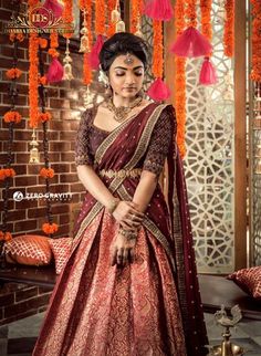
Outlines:
{"label": "patterned red cushion cut off by the right edge", "polygon": [[261,300],[261,265],[250,269],[242,269],[228,275],[244,292],[254,299]]}

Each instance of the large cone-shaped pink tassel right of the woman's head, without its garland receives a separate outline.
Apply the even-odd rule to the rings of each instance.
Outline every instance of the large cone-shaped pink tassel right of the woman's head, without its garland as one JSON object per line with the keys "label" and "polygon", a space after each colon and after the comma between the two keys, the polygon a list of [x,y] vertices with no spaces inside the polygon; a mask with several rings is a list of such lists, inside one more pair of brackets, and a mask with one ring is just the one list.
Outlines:
{"label": "large cone-shaped pink tassel right of the woman's head, without its garland", "polygon": [[201,56],[208,55],[212,50],[209,41],[195,28],[185,30],[170,48],[178,56]]}

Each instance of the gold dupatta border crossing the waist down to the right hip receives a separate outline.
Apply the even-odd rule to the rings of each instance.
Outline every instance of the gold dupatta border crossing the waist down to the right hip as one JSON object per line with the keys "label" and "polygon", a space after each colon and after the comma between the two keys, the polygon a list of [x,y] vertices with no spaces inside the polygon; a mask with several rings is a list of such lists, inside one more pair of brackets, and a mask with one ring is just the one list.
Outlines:
{"label": "gold dupatta border crossing the waist down to the right hip", "polygon": [[[127,192],[126,188],[124,186],[122,186],[118,190],[117,190],[118,195],[121,198],[124,198],[124,200],[132,200],[132,197],[129,196],[129,193]],[[173,252],[171,249],[169,247],[169,243],[166,239],[166,237],[163,234],[163,232],[158,229],[158,227],[156,226],[156,223],[150,220],[147,216],[145,216],[145,219],[143,220],[143,226],[158,240],[158,242],[164,247],[171,266],[174,269],[174,272],[176,272],[176,264],[175,264],[175,260],[173,256]]]}

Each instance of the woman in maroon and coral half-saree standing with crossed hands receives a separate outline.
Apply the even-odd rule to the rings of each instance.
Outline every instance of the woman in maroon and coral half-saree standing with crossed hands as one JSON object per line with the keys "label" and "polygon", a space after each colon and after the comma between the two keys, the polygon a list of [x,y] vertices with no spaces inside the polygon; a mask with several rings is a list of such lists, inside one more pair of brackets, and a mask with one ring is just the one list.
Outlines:
{"label": "woman in maroon and coral half-saree standing with crossed hands", "polygon": [[[206,355],[174,108],[140,95],[140,38],[113,35],[100,61],[112,96],[80,123],[87,191],[33,355]],[[158,184],[165,158],[168,206]]]}

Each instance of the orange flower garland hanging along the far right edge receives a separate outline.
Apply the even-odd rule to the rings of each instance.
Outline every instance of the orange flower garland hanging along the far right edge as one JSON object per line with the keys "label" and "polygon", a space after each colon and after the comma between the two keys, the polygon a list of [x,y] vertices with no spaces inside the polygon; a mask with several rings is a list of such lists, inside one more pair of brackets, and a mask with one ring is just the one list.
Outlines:
{"label": "orange flower garland hanging along the far right edge", "polygon": [[261,2],[251,0],[252,4],[252,71],[251,80],[261,82]]}

